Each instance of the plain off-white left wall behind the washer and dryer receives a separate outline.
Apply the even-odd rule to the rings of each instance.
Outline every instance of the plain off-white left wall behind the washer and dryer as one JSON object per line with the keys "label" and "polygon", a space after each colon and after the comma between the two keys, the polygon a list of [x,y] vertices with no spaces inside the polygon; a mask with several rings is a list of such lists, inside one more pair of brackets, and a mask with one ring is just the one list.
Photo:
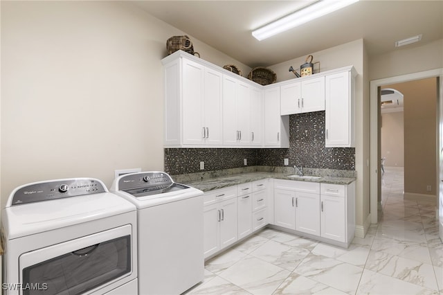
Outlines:
{"label": "plain off-white left wall behind the washer and dryer", "polygon": [[161,59],[183,32],[124,1],[0,3],[2,205],[28,182],[163,170]]}

